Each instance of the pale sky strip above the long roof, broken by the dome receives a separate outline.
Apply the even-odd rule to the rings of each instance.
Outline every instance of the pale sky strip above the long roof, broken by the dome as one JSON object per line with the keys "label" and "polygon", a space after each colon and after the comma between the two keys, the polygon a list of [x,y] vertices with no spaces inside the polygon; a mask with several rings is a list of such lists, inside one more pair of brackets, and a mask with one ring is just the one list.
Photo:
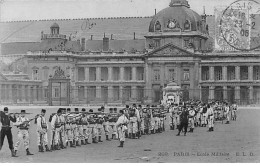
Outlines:
{"label": "pale sky strip above the long roof, broken by the dome", "polygon": [[[73,19],[97,17],[144,17],[154,9],[169,6],[171,0],[0,0],[1,21]],[[215,6],[228,6],[235,0],[188,0],[198,14],[213,15]]]}

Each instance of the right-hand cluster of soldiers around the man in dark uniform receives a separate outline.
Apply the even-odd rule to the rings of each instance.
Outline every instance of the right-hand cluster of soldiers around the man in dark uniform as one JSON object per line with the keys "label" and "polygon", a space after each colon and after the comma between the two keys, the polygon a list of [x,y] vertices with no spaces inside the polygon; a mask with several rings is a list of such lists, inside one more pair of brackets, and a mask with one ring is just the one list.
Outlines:
{"label": "right-hand cluster of soldiers around the man in dark uniform", "polygon": [[170,129],[179,130],[177,136],[184,129],[184,135],[186,136],[187,128],[190,126],[189,132],[193,132],[195,127],[207,127],[209,132],[214,131],[214,123],[216,121],[226,120],[226,124],[231,120],[236,120],[237,105],[228,104],[226,102],[210,102],[202,103],[187,102],[180,105],[171,103],[169,106],[170,112]]}

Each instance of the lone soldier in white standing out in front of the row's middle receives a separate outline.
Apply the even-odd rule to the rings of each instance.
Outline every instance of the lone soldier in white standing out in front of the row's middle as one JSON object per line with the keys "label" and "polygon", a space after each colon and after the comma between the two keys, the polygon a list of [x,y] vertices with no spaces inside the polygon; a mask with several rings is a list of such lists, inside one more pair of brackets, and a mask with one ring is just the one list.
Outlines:
{"label": "lone soldier in white standing out in front of the row's middle", "polygon": [[118,118],[116,122],[116,127],[119,134],[119,141],[120,145],[118,147],[123,147],[125,142],[125,131],[127,130],[127,124],[129,120],[125,116],[125,112],[123,110],[120,110],[120,117]]}

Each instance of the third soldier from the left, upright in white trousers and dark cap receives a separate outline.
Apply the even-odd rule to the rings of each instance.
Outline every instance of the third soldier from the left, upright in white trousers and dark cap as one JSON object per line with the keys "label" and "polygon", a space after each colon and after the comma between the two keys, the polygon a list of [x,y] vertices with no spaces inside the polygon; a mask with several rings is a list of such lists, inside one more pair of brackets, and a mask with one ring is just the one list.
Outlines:
{"label": "third soldier from the left, upright in white trousers and dark cap", "polygon": [[46,110],[42,109],[41,114],[37,118],[37,141],[38,141],[38,147],[39,152],[44,152],[43,146],[46,149],[46,152],[50,152],[50,149],[48,147],[48,124],[45,118]]}

